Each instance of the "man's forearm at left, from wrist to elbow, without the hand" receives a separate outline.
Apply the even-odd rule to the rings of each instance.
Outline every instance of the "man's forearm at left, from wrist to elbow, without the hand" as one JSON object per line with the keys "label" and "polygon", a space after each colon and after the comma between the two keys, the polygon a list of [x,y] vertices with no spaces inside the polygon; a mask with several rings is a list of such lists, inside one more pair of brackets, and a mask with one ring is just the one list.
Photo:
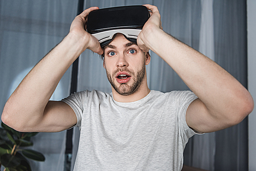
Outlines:
{"label": "man's forearm at left, from wrist to elbow, without the hand", "polygon": [[83,51],[81,42],[68,35],[37,63],[8,99],[4,122],[16,126],[40,120],[59,80]]}

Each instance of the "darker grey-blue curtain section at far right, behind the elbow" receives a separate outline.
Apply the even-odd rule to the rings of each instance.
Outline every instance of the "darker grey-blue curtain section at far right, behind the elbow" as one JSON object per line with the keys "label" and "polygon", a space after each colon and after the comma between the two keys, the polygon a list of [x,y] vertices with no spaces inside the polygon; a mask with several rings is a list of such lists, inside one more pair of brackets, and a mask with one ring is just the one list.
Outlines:
{"label": "darker grey-blue curtain section at far right, behind the elbow", "polygon": [[[215,0],[216,62],[247,88],[246,1]],[[247,118],[216,132],[215,170],[248,170]]]}

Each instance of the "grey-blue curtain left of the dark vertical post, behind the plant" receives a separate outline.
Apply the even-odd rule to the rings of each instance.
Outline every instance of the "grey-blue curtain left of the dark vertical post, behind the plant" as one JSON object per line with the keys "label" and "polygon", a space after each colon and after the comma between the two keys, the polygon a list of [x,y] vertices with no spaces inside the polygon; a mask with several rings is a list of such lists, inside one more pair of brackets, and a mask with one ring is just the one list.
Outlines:
{"label": "grey-blue curtain left of the dark vertical post, behind the plant", "polygon": [[[65,35],[77,13],[77,1],[0,1],[0,110],[19,82]],[[52,100],[69,95],[70,72],[63,76]],[[39,97],[34,97],[39,98]],[[39,133],[31,149],[45,155],[45,162],[30,160],[32,170],[64,167],[66,131]]]}

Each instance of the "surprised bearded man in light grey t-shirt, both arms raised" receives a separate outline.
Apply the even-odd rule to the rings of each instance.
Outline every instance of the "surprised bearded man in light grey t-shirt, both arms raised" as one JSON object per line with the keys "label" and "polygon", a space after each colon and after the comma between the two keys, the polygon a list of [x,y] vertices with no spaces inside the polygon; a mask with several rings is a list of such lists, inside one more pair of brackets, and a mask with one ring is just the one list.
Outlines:
{"label": "surprised bearded man in light grey t-shirt, both arms raised", "polygon": [[[161,28],[157,7],[137,45],[117,34],[101,49],[84,30],[92,7],[72,22],[70,33],[25,77],[7,101],[2,120],[17,131],[58,132],[80,127],[75,170],[181,170],[183,149],[196,133],[238,124],[252,110],[249,92],[203,54]],[[60,78],[85,50],[104,54],[112,94],[83,91],[49,101]],[[192,92],[161,93],[147,87],[151,49]]]}

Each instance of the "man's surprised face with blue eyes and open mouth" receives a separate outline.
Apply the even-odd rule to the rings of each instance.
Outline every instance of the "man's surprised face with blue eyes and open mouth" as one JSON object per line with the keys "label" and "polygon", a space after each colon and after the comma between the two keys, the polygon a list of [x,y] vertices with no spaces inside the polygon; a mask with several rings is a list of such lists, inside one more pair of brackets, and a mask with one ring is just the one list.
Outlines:
{"label": "man's surprised face with blue eyes and open mouth", "polygon": [[112,88],[120,95],[140,90],[146,82],[145,65],[148,63],[150,56],[120,33],[104,47],[103,67]]}

